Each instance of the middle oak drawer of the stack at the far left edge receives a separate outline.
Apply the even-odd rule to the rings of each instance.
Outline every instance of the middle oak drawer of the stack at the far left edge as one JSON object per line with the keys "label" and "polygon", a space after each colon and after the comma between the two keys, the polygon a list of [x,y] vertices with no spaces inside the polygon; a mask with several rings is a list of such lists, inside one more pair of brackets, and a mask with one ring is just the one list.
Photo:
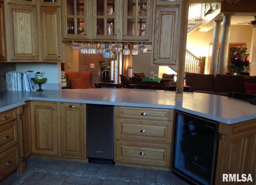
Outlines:
{"label": "middle oak drawer of the stack at the far left edge", "polygon": [[4,151],[18,143],[16,120],[0,126],[0,151]]}

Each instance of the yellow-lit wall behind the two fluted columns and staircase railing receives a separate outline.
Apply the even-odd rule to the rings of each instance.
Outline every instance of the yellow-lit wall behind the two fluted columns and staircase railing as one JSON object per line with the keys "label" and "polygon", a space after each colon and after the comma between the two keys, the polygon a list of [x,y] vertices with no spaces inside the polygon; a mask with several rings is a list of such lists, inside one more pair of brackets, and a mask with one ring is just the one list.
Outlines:
{"label": "yellow-lit wall behind the two fluted columns and staircase railing", "polygon": [[[247,52],[250,52],[252,44],[252,31],[253,28],[250,25],[235,26],[230,27],[230,40],[229,43],[246,43]],[[222,36],[222,26],[220,28],[220,40]],[[200,32],[198,29],[192,31],[187,37],[188,51],[196,55],[197,57],[206,57],[206,70],[208,69],[208,56],[209,56],[209,46],[213,39],[213,29],[207,32]],[[251,61],[249,59],[249,61]],[[254,70],[254,69],[251,69]],[[253,72],[253,71],[252,71]],[[206,71],[205,73],[208,73]]]}

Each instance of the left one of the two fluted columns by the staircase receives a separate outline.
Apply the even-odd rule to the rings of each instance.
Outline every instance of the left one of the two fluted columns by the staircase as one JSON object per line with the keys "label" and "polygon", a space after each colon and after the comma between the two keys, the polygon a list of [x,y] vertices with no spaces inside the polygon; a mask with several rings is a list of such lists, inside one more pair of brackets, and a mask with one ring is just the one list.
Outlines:
{"label": "left one of the two fluted columns by the staircase", "polygon": [[210,74],[216,75],[218,68],[219,42],[220,42],[220,24],[222,20],[214,20],[214,32],[212,40],[212,57],[210,64]]}

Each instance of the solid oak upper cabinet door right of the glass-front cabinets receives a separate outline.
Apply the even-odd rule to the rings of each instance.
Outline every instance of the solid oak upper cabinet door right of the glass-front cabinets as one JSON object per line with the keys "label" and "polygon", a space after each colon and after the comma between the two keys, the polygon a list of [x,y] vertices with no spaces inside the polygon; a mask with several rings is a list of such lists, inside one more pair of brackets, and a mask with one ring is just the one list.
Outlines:
{"label": "solid oak upper cabinet door right of the glass-front cabinets", "polygon": [[156,8],[153,64],[178,65],[179,8]]}

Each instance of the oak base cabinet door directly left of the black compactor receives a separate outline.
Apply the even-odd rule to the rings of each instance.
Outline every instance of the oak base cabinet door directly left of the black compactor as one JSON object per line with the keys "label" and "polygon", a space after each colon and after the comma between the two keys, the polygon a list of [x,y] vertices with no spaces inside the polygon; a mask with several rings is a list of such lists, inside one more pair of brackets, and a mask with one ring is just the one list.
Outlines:
{"label": "oak base cabinet door directly left of the black compactor", "polygon": [[61,155],[85,157],[84,105],[60,103]]}

